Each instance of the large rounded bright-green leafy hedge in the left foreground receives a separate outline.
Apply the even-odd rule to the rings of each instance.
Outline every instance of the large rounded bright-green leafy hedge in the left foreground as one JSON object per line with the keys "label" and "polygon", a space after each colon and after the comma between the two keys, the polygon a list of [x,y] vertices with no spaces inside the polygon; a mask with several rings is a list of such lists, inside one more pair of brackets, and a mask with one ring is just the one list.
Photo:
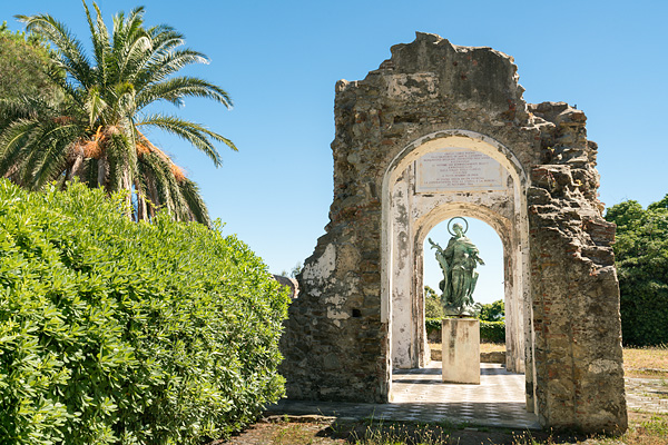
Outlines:
{"label": "large rounded bright-green leafy hedge in the left foreground", "polygon": [[0,437],[195,444],[283,394],[287,295],[234,236],[0,181]]}

